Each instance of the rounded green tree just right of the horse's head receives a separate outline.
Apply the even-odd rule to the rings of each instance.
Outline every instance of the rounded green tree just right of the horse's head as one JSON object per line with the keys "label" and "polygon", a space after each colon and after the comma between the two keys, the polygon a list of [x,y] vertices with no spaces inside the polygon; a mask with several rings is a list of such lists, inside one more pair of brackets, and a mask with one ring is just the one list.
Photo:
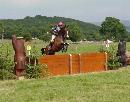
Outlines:
{"label": "rounded green tree just right of the horse's head", "polygon": [[69,25],[69,37],[73,42],[81,40],[81,31],[76,23],[71,23]]}

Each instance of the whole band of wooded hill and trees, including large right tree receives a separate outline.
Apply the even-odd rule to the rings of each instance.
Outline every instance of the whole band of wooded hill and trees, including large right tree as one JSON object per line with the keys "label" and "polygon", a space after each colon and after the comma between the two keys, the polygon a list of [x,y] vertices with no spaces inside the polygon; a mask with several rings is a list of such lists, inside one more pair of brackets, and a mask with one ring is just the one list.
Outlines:
{"label": "whole band of wooded hill and trees, including large right tree", "polygon": [[119,19],[106,17],[101,26],[79,20],[64,17],[46,17],[36,15],[27,16],[24,19],[4,19],[0,20],[0,38],[11,39],[13,34],[22,36],[26,40],[38,38],[43,41],[49,41],[51,37],[50,30],[57,22],[63,21],[69,29],[70,40],[73,42],[82,40],[102,40],[124,38],[130,40],[130,34]]}

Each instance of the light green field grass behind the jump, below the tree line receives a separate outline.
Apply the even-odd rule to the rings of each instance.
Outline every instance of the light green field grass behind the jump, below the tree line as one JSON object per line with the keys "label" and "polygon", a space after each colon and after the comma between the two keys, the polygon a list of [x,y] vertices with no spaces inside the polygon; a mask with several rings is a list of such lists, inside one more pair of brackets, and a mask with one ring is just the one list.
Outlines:
{"label": "light green field grass behind the jump, below the tree line", "polygon": [[[4,43],[4,46],[5,46],[4,49],[6,50],[7,47],[9,47],[9,49],[11,50],[10,54],[13,55],[14,51],[13,51],[13,48],[12,48],[11,40],[4,40],[3,43]],[[35,47],[36,50],[37,50],[37,55],[41,56],[41,48],[45,47],[48,44],[49,44],[49,42],[45,43],[45,42],[43,42],[41,40],[32,41],[31,42],[32,51],[33,51],[33,48]],[[8,46],[6,46],[6,45],[8,45]],[[101,46],[104,46],[103,42],[99,42],[99,43],[86,43],[86,42],[84,42],[84,43],[77,43],[77,44],[72,44],[71,43],[69,45],[68,51],[66,53],[65,52],[62,53],[60,51],[60,52],[56,52],[56,54],[73,54],[73,53],[77,54],[77,53],[99,52]],[[110,46],[113,46],[113,44],[111,44]],[[118,43],[114,43],[114,46],[117,49]],[[3,50],[3,51],[5,51],[5,50]],[[130,51],[130,42],[127,42],[127,48],[126,48],[126,50]],[[0,42],[0,51],[1,51],[1,42]],[[28,55],[28,53],[27,53],[27,55]]]}

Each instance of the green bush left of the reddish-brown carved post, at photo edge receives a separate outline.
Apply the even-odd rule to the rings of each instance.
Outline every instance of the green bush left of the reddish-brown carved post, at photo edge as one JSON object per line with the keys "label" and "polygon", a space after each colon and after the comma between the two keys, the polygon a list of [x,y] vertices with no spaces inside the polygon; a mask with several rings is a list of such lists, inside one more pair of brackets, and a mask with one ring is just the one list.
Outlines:
{"label": "green bush left of the reddish-brown carved post, at photo edge", "polygon": [[0,80],[15,79],[14,61],[10,56],[10,49],[8,45],[0,47]]}

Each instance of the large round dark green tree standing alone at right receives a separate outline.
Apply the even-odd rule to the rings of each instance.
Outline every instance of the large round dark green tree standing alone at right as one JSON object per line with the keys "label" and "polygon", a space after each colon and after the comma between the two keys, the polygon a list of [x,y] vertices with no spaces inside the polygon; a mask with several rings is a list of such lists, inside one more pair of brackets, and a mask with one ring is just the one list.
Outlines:
{"label": "large round dark green tree standing alone at right", "polygon": [[114,17],[106,17],[105,21],[101,24],[100,33],[108,39],[114,38],[115,40],[119,40],[127,38],[125,26],[119,19]]}

